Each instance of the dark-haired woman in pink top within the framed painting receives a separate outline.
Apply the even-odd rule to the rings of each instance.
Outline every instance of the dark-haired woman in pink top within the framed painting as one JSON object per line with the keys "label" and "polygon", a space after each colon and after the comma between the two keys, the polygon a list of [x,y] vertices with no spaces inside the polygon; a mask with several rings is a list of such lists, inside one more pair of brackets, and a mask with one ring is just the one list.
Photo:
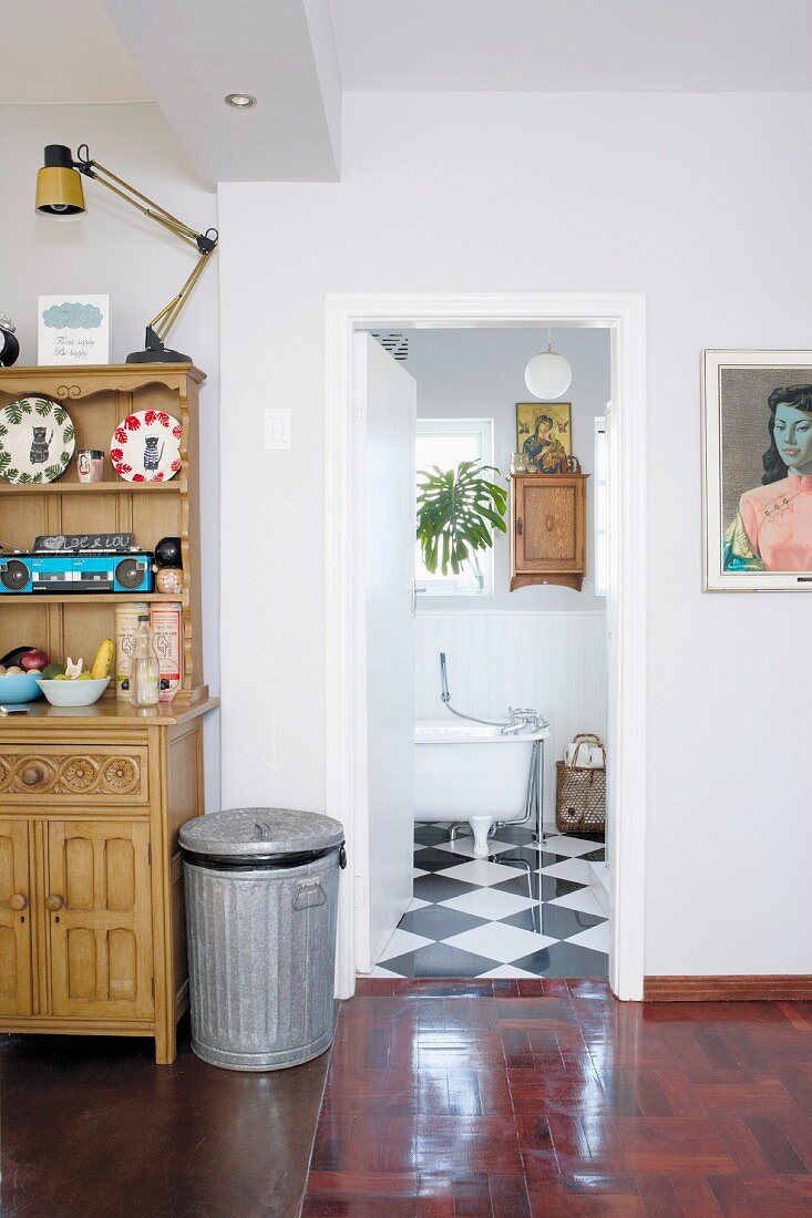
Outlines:
{"label": "dark-haired woman in pink top within the framed painting", "polygon": [[724,535],[725,571],[812,571],[812,385],[777,389],[762,485]]}

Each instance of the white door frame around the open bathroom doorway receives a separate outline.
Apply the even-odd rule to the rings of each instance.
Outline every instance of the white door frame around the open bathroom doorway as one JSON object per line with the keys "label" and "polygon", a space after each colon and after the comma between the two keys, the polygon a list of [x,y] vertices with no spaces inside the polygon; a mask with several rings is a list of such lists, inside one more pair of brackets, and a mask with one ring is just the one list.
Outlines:
{"label": "white door frame around the open bathroom doorway", "polygon": [[[611,330],[610,432],[610,742],[608,856],[612,909],[610,984],[643,999],[646,741],[646,401],[645,296],[611,292],[330,294],[324,335],[326,811],[346,833],[339,893],[337,995],[355,993],[355,910],[366,875],[363,699],[366,590],[363,536],[355,526],[360,488],[352,400],[355,330],[401,326]],[[362,449],[361,449],[362,454]],[[357,845],[357,853],[355,848]]]}

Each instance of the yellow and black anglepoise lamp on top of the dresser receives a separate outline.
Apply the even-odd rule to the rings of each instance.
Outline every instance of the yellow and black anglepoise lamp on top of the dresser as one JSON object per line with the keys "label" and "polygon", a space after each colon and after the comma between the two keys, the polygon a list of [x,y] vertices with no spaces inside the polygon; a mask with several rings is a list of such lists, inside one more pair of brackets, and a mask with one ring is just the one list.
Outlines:
{"label": "yellow and black anglepoise lamp on top of the dresser", "polygon": [[113,195],[118,195],[126,203],[138,208],[143,216],[156,220],[169,233],[174,233],[183,241],[194,245],[200,257],[194,270],[187,279],[177,296],[161,309],[146,325],[146,343],[144,351],[134,351],[127,356],[128,364],[188,364],[191,363],[189,356],[180,354],[165,347],[165,340],[178,319],[178,314],[187,302],[189,292],[200,279],[211,253],[217,247],[217,229],[206,229],[205,233],[195,233],[194,229],[184,224],[166,208],[154,203],[151,199],[135,190],[129,183],[116,177],[110,169],[105,169],[98,161],[90,160],[90,150],[87,144],[82,144],[77,150],[78,161],[74,161],[71,150],[63,144],[49,144],[45,149],[45,166],[37,174],[37,211],[44,216],[78,216],[84,207],[84,191],[82,178],[93,178],[101,183]]}

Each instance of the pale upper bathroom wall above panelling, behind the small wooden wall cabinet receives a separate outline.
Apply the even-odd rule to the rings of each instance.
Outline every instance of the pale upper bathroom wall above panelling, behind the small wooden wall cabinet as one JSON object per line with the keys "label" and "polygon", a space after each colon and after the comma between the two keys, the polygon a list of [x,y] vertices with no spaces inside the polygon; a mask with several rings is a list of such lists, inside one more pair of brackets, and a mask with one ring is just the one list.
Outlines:
{"label": "pale upper bathroom wall above panelling, behind the small wooden wall cabinet", "polygon": [[[516,403],[538,401],[524,384],[528,359],[546,351],[546,330],[410,330],[404,367],[417,381],[418,419],[493,419],[494,463],[510,474],[517,451]],[[572,365],[572,385],[560,401],[572,403],[572,451],[584,474],[595,473],[595,418],[605,414],[611,392],[610,333],[605,329],[554,331],[554,350]],[[539,402],[539,409],[543,403]],[[502,609],[605,609],[595,596],[594,479],[586,484],[586,579],[580,592],[552,585],[510,590],[510,538],[495,533],[494,593],[489,597],[423,597],[418,610],[479,613]]]}

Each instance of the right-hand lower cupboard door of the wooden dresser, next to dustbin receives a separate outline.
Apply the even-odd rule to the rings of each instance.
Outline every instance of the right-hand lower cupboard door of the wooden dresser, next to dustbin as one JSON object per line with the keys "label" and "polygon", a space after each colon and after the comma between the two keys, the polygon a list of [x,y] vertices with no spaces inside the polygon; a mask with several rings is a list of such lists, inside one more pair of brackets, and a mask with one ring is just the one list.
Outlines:
{"label": "right-hand lower cupboard door of the wooden dresser, next to dustbin", "polygon": [[146,1019],[152,1002],[149,827],[48,827],[54,1015]]}

